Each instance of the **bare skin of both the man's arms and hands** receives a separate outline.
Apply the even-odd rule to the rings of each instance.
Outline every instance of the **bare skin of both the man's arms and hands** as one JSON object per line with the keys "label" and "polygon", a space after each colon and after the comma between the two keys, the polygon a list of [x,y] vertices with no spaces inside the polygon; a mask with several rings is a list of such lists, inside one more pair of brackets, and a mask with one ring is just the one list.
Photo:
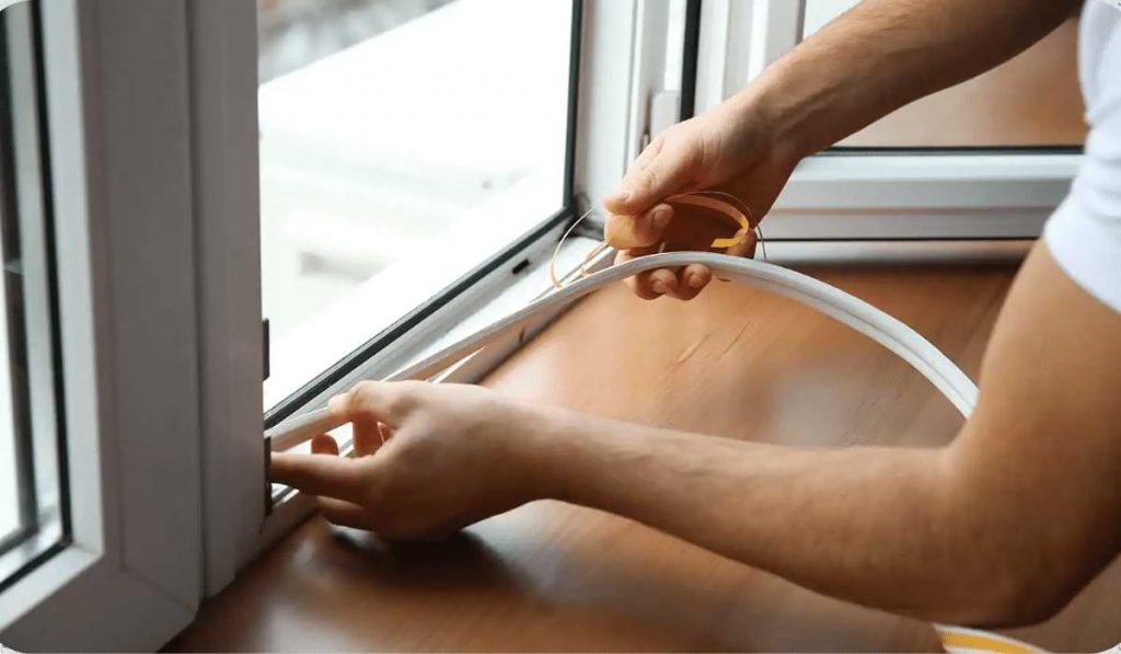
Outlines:
{"label": "bare skin of both the man's arms and hands", "polygon": [[[802,156],[1008,58],[1072,6],[868,0],[712,114],[651,144],[608,206],[639,217],[628,225],[651,243],[665,221],[687,222],[670,215],[656,228],[671,193],[717,187],[762,215]],[[680,236],[676,247],[687,247],[688,231]],[[694,276],[711,274],[660,270],[634,288],[652,297],[660,284],[689,298],[703,287]],[[363,383],[331,403],[354,425],[355,457],[321,435],[313,454],[274,454],[271,476],[319,496],[327,519],[391,538],[439,536],[554,498],[867,606],[1019,625],[1053,615],[1121,552],[1119,388],[1121,314],[1040,242],[997,321],[978,406],[943,448],[785,448],[478,387]]]}

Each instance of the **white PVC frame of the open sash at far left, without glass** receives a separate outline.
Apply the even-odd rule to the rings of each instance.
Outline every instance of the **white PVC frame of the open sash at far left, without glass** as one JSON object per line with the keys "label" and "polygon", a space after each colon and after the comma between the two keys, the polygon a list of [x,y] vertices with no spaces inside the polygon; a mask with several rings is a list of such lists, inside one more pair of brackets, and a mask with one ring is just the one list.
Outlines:
{"label": "white PVC frame of the open sash at far left, without glass", "polygon": [[39,9],[71,540],[0,595],[0,641],[152,650],[203,564],[186,8]]}

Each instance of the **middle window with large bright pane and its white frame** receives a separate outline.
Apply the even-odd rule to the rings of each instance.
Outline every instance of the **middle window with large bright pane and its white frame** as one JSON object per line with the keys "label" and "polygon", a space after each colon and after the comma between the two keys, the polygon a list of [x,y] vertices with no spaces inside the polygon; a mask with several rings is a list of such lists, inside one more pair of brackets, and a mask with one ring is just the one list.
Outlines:
{"label": "middle window with large bright pane and its white frame", "polygon": [[[661,3],[333,4],[334,13],[321,2],[189,4],[207,593],[308,510],[306,498],[262,492],[262,405],[269,427],[544,291],[543,264],[586,208],[582,197],[618,182],[647,127],[632,110],[648,103],[631,98],[648,98],[647,79],[664,71]],[[526,16],[528,6],[540,16]],[[377,19],[387,8],[404,19]],[[654,22],[663,29],[647,30]],[[446,36],[452,27],[473,37]],[[321,38],[332,29],[342,36]],[[284,34],[318,36],[270,45]],[[657,44],[649,61],[636,62],[640,44]],[[434,93],[443,95],[421,102]],[[540,111],[513,117],[495,99]],[[288,101],[315,111],[293,112]],[[458,147],[472,144],[493,147]],[[328,230],[335,238],[324,240]],[[401,234],[398,245],[378,249],[370,234],[382,232]],[[575,248],[562,266],[577,266],[586,241]],[[278,321],[263,394],[262,314]],[[488,348],[456,379],[483,374],[519,342]]]}

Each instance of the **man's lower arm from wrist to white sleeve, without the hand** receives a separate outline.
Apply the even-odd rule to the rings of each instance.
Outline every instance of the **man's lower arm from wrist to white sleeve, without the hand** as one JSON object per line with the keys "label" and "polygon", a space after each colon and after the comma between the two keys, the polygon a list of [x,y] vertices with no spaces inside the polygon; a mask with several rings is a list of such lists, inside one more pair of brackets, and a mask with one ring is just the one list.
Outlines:
{"label": "man's lower arm from wrist to white sleeve, without the hand", "polygon": [[539,453],[560,499],[863,605],[1031,623],[1121,551],[1121,315],[1037,246],[976,412],[944,449],[791,449],[595,420],[566,435]]}

